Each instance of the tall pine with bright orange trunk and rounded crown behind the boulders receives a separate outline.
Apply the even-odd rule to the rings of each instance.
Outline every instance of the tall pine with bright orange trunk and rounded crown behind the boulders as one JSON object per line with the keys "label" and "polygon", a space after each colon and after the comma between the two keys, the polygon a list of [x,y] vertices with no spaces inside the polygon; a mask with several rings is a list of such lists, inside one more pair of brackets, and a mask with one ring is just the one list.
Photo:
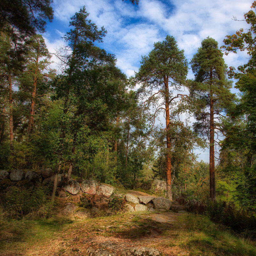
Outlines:
{"label": "tall pine with bright orange trunk and rounded crown behind the boulders", "polygon": [[188,65],[183,50],[178,49],[174,37],[166,36],[163,42],[154,44],[154,49],[148,56],[142,57],[141,67],[135,76],[136,81],[141,83],[139,91],[142,97],[149,96],[145,104],[157,106],[154,108],[153,119],[160,112],[165,113],[167,194],[169,199],[172,199],[170,130],[172,126],[180,124],[180,122],[170,119],[170,110],[172,111],[172,108],[176,107],[175,100],[183,97],[181,94],[174,95],[174,90],[179,90],[181,84],[185,83],[187,72]]}

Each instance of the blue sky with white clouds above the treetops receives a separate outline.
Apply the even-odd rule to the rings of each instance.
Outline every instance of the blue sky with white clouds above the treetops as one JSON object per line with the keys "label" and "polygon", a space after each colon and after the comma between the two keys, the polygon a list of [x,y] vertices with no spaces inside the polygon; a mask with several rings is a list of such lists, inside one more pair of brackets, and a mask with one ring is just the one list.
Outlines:
{"label": "blue sky with white clouds above the treetops", "polygon": [[[53,1],[54,19],[43,34],[49,52],[65,45],[61,37],[70,29],[70,17],[85,5],[89,19],[108,31],[100,47],[116,55],[116,66],[127,77],[139,70],[141,56],[148,55],[154,43],[162,42],[166,35],[174,36],[188,62],[207,36],[223,45],[226,35],[247,28],[245,21],[234,17],[243,20],[252,5],[252,0],[140,0],[138,5],[122,0]],[[237,67],[247,62],[247,54],[229,53],[224,60],[228,67]],[[52,57],[52,61],[52,68],[58,68],[58,60]],[[188,78],[194,78],[191,69]],[[199,161],[209,162],[209,150],[196,153],[200,153]]]}

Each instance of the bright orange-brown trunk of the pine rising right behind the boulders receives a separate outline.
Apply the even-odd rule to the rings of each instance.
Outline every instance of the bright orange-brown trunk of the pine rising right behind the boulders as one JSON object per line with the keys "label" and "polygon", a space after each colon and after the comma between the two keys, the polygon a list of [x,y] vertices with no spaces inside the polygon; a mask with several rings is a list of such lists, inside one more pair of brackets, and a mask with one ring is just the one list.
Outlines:
{"label": "bright orange-brown trunk of the pine rising right behind the boulders", "polygon": [[171,138],[169,135],[170,131],[170,110],[169,110],[169,87],[168,87],[168,77],[164,77],[165,86],[165,121],[166,121],[166,171],[167,171],[167,198],[172,201],[172,164],[171,164]]}

